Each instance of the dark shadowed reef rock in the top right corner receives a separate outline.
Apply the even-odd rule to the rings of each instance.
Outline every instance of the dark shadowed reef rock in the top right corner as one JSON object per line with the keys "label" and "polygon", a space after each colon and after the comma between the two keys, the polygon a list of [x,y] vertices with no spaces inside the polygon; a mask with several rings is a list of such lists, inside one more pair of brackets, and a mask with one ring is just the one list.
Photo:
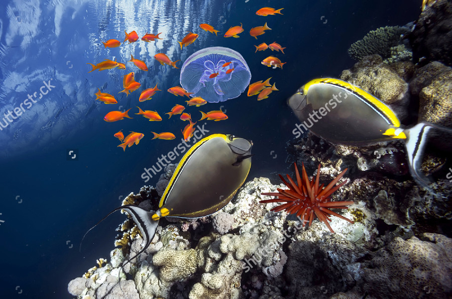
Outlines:
{"label": "dark shadowed reef rock in the top right corner", "polygon": [[452,66],[452,3],[447,0],[431,3],[408,38],[415,63],[425,57],[423,63],[440,61]]}

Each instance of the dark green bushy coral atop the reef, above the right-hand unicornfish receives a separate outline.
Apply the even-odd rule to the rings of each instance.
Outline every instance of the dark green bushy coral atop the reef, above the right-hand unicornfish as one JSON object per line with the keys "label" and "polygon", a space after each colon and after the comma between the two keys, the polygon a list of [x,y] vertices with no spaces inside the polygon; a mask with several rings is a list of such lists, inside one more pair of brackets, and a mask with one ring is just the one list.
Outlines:
{"label": "dark green bushy coral atop the reef, above the right-hand unicornfish", "polygon": [[[355,60],[372,54],[378,54],[383,58],[392,57],[394,53],[398,53],[399,49],[391,48],[397,47],[402,40],[402,35],[406,33],[408,29],[400,26],[386,26],[372,30],[362,40],[350,46],[349,55]],[[403,50],[402,53],[404,57],[407,55]]]}

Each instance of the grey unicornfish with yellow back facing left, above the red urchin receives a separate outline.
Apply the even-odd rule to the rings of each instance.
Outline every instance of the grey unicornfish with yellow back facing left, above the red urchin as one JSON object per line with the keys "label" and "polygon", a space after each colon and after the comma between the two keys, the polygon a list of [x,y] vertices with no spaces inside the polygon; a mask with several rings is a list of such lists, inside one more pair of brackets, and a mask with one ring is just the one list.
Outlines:
{"label": "grey unicornfish with yellow back facing left, above the red urchin", "polygon": [[378,98],[333,78],[309,81],[289,98],[288,104],[301,122],[292,132],[296,138],[310,130],[335,144],[366,146],[403,140],[413,178],[428,188],[428,181],[419,168],[427,132],[437,126],[421,122],[402,128],[395,113]]}

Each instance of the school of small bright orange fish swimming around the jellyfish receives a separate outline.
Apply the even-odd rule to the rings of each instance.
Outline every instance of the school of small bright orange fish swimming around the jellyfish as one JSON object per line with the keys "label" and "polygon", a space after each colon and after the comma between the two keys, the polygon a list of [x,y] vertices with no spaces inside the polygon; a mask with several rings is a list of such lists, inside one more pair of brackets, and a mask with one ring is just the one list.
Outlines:
{"label": "school of small bright orange fish swimming around the jellyfish", "polygon": [[[256,12],[256,15],[258,16],[269,16],[269,15],[276,15],[276,14],[281,14],[281,10],[283,9],[279,9],[279,10],[275,10],[273,8],[269,8],[269,7],[265,7],[262,8],[260,10],[258,10]],[[212,26],[208,25],[208,24],[200,24],[199,27],[201,29],[203,29],[206,32],[211,32],[212,34],[217,35],[217,33],[219,32],[218,30],[215,30]],[[257,37],[259,35],[263,35],[265,33],[266,30],[271,30],[271,28],[269,28],[267,26],[267,23],[265,23],[264,26],[258,26],[258,27],[254,27],[251,28],[250,30],[250,35],[254,38],[257,39]],[[243,24],[240,23],[240,26],[234,26],[229,28],[229,30],[224,34],[225,38],[228,37],[235,37],[238,38],[239,34],[242,33],[244,31],[243,29]],[[126,38],[124,39],[124,42],[129,41],[130,43],[134,43],[139,39],[138,34],[135,31],[132,31],[131,33],[127,33],[127,31],[125,31],[126,33]],[[161,39],[159,37],[161,33],[154,35],[154,34],[150,34],[150,33],[146,33],[141,40],[144,42],[153,42],[156,39]],[[192,44],[196,39],[198,38],[198,34],[189,32],[183,39],[182,41],[178,42],[180,44],[180,48],[182,49],[182,47],[187,47],[188,45]],[[119,47],[121,45],[121,42],[119,40],[116,39],[110,39],[106,42],[102,42],[105,48],[116,48]],[[256,51],[265,51],[267,49],[270,49],[272,51],[281,51],[284,54],[284,49],[283,47],[281,47],[281,45],[279,45],[276,42],[271,43],[270,45],[267,45],[266,43],[262,43],[256,47]],[[180,60],[176,60],[176,61],[171,61],[171,59],[169,59],[168,56],[166,56],[165,53],[158,53],[156,55],[154,55],[154,58],[160,62],[162,65],[167,64],[167,65],[171,65],[174,68],[178,68],[176,66],[176,62],[180,61]],[[129,60],[129,62],[133,62],[135,64],[135,66],[137,66],[140,70],[142,71],[148,71],[148,67],[146,66],[146,63],[140,59],[136,59],[134,58],[133,55],[131,55],[131,59]],[[230,63],[230,62],[229,62]],[[225,63],[222,65],[222,67],[226,67],[228,66],[229,63]],[[274,56],[268,56],[267,58],[265,58],[264,60],[262,60],[261,62],[263,65],[266,65],[268,67],[280,67],[282,69],[283,64],[285,64],[285,62],[281,62],[281,60],[279,60],[277,57]],[[104,59],[104,61],[97,63],[97,64],[92,64],[92,63],[87,63],[90,64],[92,66],[92,69],[89,72],[92,72],[94,70],[106,70],[106,69],[111,69],[111,68],[119,68],[119,69],[126,69],[126,65],[124,63],[120,63],[109,59]],[[234,71],[234,68],[229,69],[227,73],[231,73]],[[213,78],[215,76],[217,76],[218,73],[213,73],[210,75],[210,78]],[[275,83],[270,84],[270,78],[268,78],[267,80],[263,81],[257,81],[254,83],[251,83],[249,85],[248,88],[248,96],[253,96],[253,95],[258,95],[257,99],[258,101],[261,101],[264,98],[268,98],[269,94],[275,90],[278,90],[275,86]],[[141,84],[137,81],[135,81],[135,73],[134,72],[130,72],[126,75],[124,75],[124,79],[123,79],[123,86],[124,89],[121,90],[119,93],[124,92],[126,93],[126,96],[128,96],[131,92],[137,90],[138,88],[140,88]],[[115,96],[109,94],[109,93],[105,93],[105,92],[100,92],[100,89],[98,89],[99,91],[94,93],[96,95],[96,100],[98,99],[99,101],[103,102],[104,104],[118,104],[118,101],[116,100]],[[157,91],[162,91],[160,89],[158,89],[157,84],[155,85],[154,88],[147,88],[145,90],[143,90],[140,94],[140,97],[138,99],[138,101],[144,102],[144,101],[148,101],[149,99],[152,98],[152,96],[157,92]],[[184,88],[180,87],[180,86],[174,86],[171,87],[167,90],[168,92],[176,95],[176,96],[187,96],[189,99],[188,101],[185,101],[187,103],[187,106],[195,106],[195,107],[200,107],[201,105],[206,104],[207,102],[205,101],[205,99],[199,97],[199,96],[195,96],[195,97],[190,97],[192,96],[191,93],[192,92],[187,92],[187,90],[185,90]],[[136,113],[136,115],[142,115],[143,117],[149,119],[149,121],[161,121],[162,118],[161,116],[157,113],[157,111],[150,111],[150,110],[142,110],[140,107],[138,107],[138,113]],[[124,118],[129,118],[131,119],[131,117],[128,115],[129,111],[132,108],[130,108],[129,110],[125,111],[125,112],[121,112],[121,111],[111,111],[109,113],[107,113],[105,115],[105,117],[103,118],[104,121],[106,122],[116,122],[116,121],[120,121],[123,120]],[[188,121],[189,124],[185,126],[185,128],[183,130],[181,130],[183,138],[185,141],[189,141],[190,138],[193,136],[193,132],[195,130],[194,125],[196,124],[192,122],[191,119],[191,115],[188,113],[184,113],[183,111],[185,110],[185,107],[182,105],[176,105],[174,106],[170,112],[166,113],[169,115],[169,118],[171,118],[173,115],[181,115],[180,119],[182,121]],[[199,111],[201,113],[201,120],[207,119],[207,120],[214,120],[214,121],[221,121],[221,120],[226,120],[228,119],[228,116],[225,115],[221,110],[214,110],[214,111],[210,111],[208,113],[204,113],[202,111]],[[163,132],[163,133],[155,133],[155,132],[151,132],[154,134],[154,138],[152,139],[163,139],[163,140],[172,140],[175,139],[176,136],[173,133],[170,132]],[[119,132],[114,134],[114,137],[118,138],[121,142],[120,145],[118,145],[118,147],[123,148],[124,151],[126,151],[126,147],[131,147],[134,144],[139,144],[140,140],[144,137],[143,133],[137,133],[137,132],[130,132],[130,134],[126,137],[124,137],[124,134],[122,132],[122,130],[120,130]]]}

